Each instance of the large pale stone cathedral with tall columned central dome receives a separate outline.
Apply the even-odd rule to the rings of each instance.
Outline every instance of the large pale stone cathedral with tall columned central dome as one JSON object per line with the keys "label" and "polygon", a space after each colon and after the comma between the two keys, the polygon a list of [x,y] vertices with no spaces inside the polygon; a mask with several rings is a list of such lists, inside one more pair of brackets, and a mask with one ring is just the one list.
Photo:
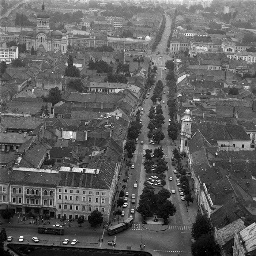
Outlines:
{"label": "large pale stone cathedral with tall columned central dome", "polygon": [[67,33],[60,30],[50,30],[49,14],[42,4],[42,11],[37,15],[37,27],[26,36],[26,49],[31,50],[32,46],[36,52],[67,52]]}

